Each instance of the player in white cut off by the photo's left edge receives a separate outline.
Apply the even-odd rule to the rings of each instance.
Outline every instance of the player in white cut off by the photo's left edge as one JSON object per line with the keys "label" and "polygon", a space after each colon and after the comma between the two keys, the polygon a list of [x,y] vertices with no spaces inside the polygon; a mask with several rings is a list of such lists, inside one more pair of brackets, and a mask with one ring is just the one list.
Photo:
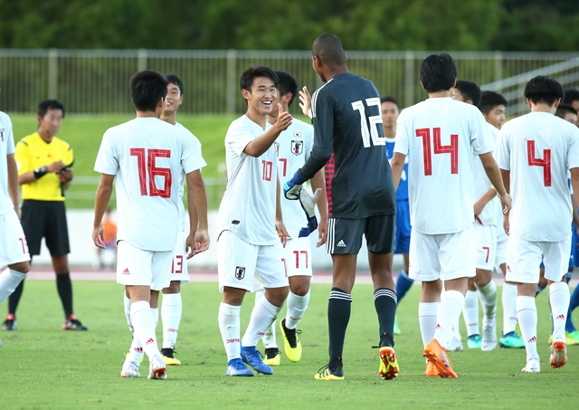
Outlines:
{"label": "player in white cut off by the photo's left edge", "polygon": [[[12,121],[0,111],[0,303],[24,281],[30,254],[18,209],[18,167],[14,159]],[[0,343],[1,345],[2,343]]]}

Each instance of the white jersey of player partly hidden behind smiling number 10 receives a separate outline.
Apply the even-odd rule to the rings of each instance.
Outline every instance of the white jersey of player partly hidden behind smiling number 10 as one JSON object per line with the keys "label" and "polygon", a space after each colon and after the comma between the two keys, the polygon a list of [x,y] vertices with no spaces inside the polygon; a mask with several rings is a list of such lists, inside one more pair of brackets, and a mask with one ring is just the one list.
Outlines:
{"label": "white jersey of player partly hidden behind smiling number 10", "polygon": [[[281,181],[291,178],[296,171],[303,167],[311,154],[314,144],[314,128],[299,119],[293,119],[288,129],[281,132],[275,140],[278,151],[278,175]],[[308,224],[306,213],[299,205],[299,201],[290,201],[280,192],[281,213],[283,224],[291,238],[297,239],[299,230]]]}

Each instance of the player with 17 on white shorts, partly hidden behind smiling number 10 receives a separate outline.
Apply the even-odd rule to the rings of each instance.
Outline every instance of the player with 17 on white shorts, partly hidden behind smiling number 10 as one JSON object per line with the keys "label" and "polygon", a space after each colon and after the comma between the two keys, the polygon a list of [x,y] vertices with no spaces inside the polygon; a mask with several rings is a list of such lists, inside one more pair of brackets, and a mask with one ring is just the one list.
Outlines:
{"label": "player with 17 on white shorts, partly hidden behind smiling number 10", "polygon": [[[288,111],[293,100],[298,95],[298,83],[287,72],[275,72],[278,76],[277,98],[273,101],[271,114],[268,122],[274,125],[278,119],[278,104],[283,111]],[[288,129],[281,132],[280,137],[274,142],[278,154],[278,174],[280,177],[292,176],[303,167],[308,160],[314,143],[314,128],[299,119],[293,119]],[[321,246],[326,243],[327,234],[327,198],[324,176],[321,171],[311,180],[312,191],[320,189],[318,198],[318,210],[320,221],[318,224],[318,243]],[[289,295],[288,311],[286,318],[280,321],[281,334],[283,335],[286,356],[292,362],[301,358],[301,344],[296,336],[296,328],[299,320],[308,309],[309,282],[312,277],[311,246],[306,230],[300,237],[302,228],[308,226],[308,218],[298,201],[289,201],[281,195],[281,212],[289,239],[284,248],[286,267],[288,268]],[[257,301],[265,294],[258,291],[255,294]],[[265,346],[266,358],[263,362],[270,366],[280,365],[280,351],[275,339],[275,320],[261,338]]]}

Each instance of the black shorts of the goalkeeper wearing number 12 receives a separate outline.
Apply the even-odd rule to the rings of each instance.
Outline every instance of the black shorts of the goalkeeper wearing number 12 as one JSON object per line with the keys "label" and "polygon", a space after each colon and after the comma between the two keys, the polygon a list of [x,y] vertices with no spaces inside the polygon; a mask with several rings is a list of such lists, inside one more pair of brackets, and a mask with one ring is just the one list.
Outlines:
{"label": "black shorts of the goalkeeper wearing number 12", "polygon": [[394,251],[396,215],[375,215],[364,219],[329,218],[327,221],[327,253],[359,253],[362,235],[368,251],[386,254]]}

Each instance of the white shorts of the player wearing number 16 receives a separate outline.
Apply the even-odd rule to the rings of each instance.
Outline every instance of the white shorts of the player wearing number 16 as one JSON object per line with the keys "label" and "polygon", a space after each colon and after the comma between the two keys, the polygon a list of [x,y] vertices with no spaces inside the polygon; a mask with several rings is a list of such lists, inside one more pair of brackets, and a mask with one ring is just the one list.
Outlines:
{"label": "white shorts of the player wearing number 16", "polygon": [[119,241],[117,283],[126,286],[150,286],[161,291],[171,284],[173,251],[142,251],[127,241]]}

